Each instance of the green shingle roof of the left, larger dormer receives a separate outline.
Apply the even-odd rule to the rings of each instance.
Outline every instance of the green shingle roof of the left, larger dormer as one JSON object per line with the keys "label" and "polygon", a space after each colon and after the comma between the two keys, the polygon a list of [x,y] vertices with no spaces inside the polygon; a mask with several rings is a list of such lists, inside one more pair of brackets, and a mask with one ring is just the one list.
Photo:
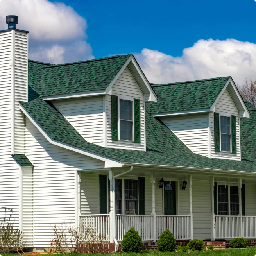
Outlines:
{"label": "green shingle roof of the left, larger dormer", "polygon": [[105,90],[130,56],[118,55],[59,65],[33,62],[41,65],[37,70],[36,90],[41,96]]}

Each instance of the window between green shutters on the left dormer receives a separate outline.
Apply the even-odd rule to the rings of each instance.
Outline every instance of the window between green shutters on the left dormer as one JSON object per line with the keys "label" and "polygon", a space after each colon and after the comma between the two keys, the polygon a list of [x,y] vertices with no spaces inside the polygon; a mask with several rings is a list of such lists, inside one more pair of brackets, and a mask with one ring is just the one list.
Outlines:
{"label": "window between green shutters on the left dormer", "polygon": [[132,101],[120,100],[120,140],[132,141],[133,119]]}

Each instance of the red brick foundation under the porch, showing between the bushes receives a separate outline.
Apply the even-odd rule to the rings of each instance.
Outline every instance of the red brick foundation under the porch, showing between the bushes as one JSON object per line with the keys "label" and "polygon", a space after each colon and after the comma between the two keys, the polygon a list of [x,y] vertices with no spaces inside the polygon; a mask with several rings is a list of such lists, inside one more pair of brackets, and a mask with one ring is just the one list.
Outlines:
{"label": "red brick foundation under the porch, showing between the bushes", "polygon": [[[188,240],[184,241],[177,241],[176,245],[179,246],[186,246],[188,244]],[[230,241],[204,241],[204,245],[206,248],[208,248],[210,245],[213,245],[215,249],[225,249],[229,248],[229,242]],[[256,240],[248,240],[248,246],[254,246],[256,245]],[[142,250],[157,250],[157,244],[154,242],[149,242],[149,243],[142,243]],[[104,254],[112,253],[115,251],[115,243],[103,243],[102,244],[102,252]],[[118,251],[121,251],[121,245],[118,243]],[[88,249],[87,244],[83,243],[79,246],[78,249],[79,253],[90,253],[90,250]]]}

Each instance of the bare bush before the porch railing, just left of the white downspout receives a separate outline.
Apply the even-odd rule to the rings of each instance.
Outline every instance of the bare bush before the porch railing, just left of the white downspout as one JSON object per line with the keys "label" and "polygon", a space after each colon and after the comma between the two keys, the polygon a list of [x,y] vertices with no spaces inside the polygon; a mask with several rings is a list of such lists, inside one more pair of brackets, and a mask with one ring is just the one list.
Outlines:
{"label": "bare bush before the porch railing, just left of the white downspout", "polygon": [[93,227],[86,228],[86,243],[91,253],[101,253],[104,240],[106,240],[106,235],[98,234]]}

